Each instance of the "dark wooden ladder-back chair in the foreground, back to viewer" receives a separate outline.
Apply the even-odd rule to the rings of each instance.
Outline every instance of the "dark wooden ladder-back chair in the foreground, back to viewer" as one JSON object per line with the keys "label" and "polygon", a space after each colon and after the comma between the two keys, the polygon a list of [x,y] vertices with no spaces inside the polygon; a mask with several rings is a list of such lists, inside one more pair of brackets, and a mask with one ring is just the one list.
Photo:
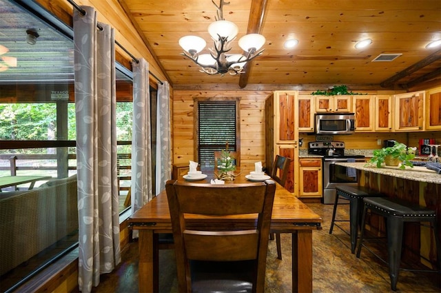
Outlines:
{"label": "dark wooden ladder-back chair in the foreground, back to viewer", "polygon": [[[276,184],[167,181],[178,292],[263,292]],[[231,217],[220,225],[216,217]]]}

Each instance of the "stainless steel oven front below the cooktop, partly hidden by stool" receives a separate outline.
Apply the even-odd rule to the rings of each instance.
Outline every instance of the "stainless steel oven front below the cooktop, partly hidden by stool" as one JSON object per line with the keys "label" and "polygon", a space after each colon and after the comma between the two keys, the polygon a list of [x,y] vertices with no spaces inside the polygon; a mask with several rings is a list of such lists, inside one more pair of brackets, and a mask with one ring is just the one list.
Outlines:
{"label": "stainless steel oven front below the cooktop, partly hidden by stool", "polygon": [[[365,159],[355,159],[364,162]],[[347,159],[325,158],[323,164],[323,203],[334,204],[336,187],[338,185],[357,185],[356,170],[336,165],[337,162],[346,162]]]}

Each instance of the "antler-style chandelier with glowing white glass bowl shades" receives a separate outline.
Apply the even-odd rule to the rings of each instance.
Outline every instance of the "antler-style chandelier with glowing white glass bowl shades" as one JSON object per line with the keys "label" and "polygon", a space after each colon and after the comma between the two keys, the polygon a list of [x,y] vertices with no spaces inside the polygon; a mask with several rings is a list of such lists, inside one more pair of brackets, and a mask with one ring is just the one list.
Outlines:
{"label": "antler-style chandelier with glowing white glass bowl shades", "polygon": [[212,3],[216,6],[217,15],[216,21],[208,26],[208,32],[214,41],[214,47],[209,48],[209,54],[198,54],[207,45],[205,40],[201,37],[185,36],[179,39],[179,45],[184,50],[181,54],[201,66],[200,71],[207,74],[223,76],[227,72],[232,75],[244,73],[245,63],[262,54],[263,50],[258,50],[265,43],[265,37],[261,34],[246,34],[238,42],[244,54],[228,54],[232,49],[232,41],[236,39],[238,27],[223,18],[223,6],[229,2],[220,0],[219,6],[214,0]]}

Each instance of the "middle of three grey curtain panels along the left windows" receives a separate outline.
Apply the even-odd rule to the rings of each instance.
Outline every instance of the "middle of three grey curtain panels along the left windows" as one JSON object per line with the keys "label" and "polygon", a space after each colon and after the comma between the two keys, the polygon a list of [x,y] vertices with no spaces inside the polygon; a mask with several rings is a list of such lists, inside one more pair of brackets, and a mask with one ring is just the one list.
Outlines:
{"label": "middle of three grey curtain panels along the left windows", "polygon": [[[132,213],[152,199],[149,65],[133,63]],[[137,237],[137,231],[133,237]]]}

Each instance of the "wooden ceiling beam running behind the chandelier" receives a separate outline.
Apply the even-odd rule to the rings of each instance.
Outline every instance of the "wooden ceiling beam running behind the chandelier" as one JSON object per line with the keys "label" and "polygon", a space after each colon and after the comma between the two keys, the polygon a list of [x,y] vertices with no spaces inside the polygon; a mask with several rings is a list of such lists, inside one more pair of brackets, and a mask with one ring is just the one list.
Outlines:
{"label": "wooden ceiling beam running behind the chandelier", "polygon": [[[262,30],[263,19],[265,18],[265,12],[267,9],[267,0],[258,0],[251,2],[251,8],[249,10],[248,28],[247,34],[260,34]],[[253,61],[245,63],[243,74],[240,74],[239,86],[245,88],[249,79],[249,71],[251,70]]]}

